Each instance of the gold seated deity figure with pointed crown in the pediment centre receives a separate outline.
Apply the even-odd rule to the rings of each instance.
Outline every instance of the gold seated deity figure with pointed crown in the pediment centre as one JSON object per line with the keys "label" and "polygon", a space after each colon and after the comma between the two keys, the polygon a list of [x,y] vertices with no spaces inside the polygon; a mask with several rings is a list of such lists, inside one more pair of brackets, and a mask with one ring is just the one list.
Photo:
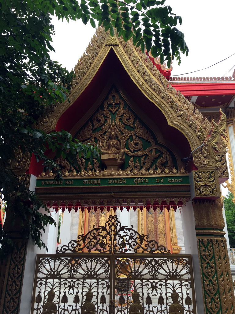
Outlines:
{"label": "gold seated deity figure with pointed crown in the pediment centre", "polygon": [[124,156],[124,149],[121,149],[121,143],[119,142],[117,137],[117,132],[115,130],[115,124],[112,122],[111,124],[111,129],[109,133],[109,139],[106,139],[104,141],[104,147],[101,149],[103,154],[109,154],[109,158],[116,158],[116,156],[112,155],[117,155],[118,154],[118,161],[120,161],[123,156]]}

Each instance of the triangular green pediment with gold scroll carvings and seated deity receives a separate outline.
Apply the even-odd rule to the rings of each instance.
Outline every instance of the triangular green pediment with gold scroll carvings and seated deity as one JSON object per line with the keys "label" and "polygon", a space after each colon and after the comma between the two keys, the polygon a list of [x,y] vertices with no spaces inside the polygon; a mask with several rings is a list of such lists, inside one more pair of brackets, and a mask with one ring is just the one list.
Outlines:
{"label": "triangular green pediment with gold scroll carvings and seated deity", "polygon": [[112,89],[102,106],[76,134],[83,143],[101,148],[101,161],[79,159],[82,171],[118,171],[127,174],[177,172],[175,156],[160,145],[154,133],[135,115],[128,104]]}

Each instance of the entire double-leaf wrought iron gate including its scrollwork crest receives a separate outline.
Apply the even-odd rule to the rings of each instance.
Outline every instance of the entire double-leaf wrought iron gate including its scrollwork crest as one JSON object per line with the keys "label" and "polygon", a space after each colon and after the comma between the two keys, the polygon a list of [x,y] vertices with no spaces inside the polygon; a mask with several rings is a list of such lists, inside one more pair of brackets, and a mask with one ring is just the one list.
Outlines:
{"label": "entire double-leaf wrought iron gate including its scrollwork crest", "polygon": [[170,255],[110,216],[60,253],[38,255],[31,313],[196,313],[191,256]]}

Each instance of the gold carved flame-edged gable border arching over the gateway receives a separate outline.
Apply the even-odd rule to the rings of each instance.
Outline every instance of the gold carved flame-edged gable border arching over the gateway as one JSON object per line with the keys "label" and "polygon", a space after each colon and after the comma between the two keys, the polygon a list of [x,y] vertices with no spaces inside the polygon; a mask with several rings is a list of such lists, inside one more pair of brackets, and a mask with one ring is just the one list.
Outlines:
{"label": "gold carved flame-edged gable border arching over the gateway", "polygon": [[[134,84],[164,113],[168,124],[184,134],[191,146],[191,151],[197,149],[204,143],[204,146],[196,150],[193,154],[195,166],[200,170],[217,170],[219,176],[226,176],[227,165],[224,157],[226,151],[226,143],[224,140],[226,122],[223,112],[221,112],[219,122],[213,122],[212,125],[179,90],[177,91],[169,84],[167,79],[157,70],[155,65],[153,65],[149,57],[141,52],[140,47],[134,46],[132,40],[125,42],[123,38],[118,37],[117,34],[114,34],[112,37],[108,31],[105,32],[104,28],[101,27],[96,30],[96,35],[93,36],[91,43],[87,46],[86,53],[83,54],[74,68],[75,78],[70,91],[70,102],[66,100],[63,103],[56,103],[53,107],[48,107],[47,114],[40,117],[38,120],[40,128],[45,132],[50,132],[56,128],[56,124],[61,116],[66,114],[66,110],[72,106],[75,101],[79,100],[80,95],[88,88],[110,51],[118,56],[119,61],[132,78]],[[115,68],[115,65],[112,65],[112,67]],[[78,101],[78,103],[79,106],[83,106],[83,101]],[[72,113],[70,114],[72,115]],[[110,123],[112,123],[112,118]],[[116,121],[114,121],[114,123],[116,123]],[[118,127],[117,123],[115,126]],[[70,127],[71,126],[68,126],[67,129],[69,130]],[[88,125],[87,129],[89,129],[89,127]],[[105,136],[106,134],[107,133],[104,132],[101,135]],[[121,136],[124,136],[123,133]],[[118,140],[118,138],[116,139]],[[135,139],[133,139],[132,142],[134,146],[138,145],[138,143],[135,143]],[[119,161],[122,163],[121,169],[128,170],[128,166],[126,165],[126,160],[128,160],[126,158],[127,149],[126,147],[125,166],[122,163],[124,157],[123,152],[120,152]],[[153,155],[154,154],[151,154],[151,156]],[[136,160],[136,156],[133,156],[133,161],[134,160]],[[145,171],[148,164],[146,160],[147,155],[145,156],[144,165],[141,165],[140,160],[138,160],[140,169],[143,169],[143,171]],[[81,161],[81,163],[83,163],[83,161]],[[130,161],[130,163],[132,163],[132,161]],[[111,167],[111,165],[112,162],[109,160],[109,166]],[[163,168],[166,169],[170,166],[165,167],[165,165],[163,165]],[[132,165],[129,166],[132,167]],[[92,166],[92,170],[94,170],[95,167],[97,171],[99,171],[98,165]],[[152,167],[151,164],[147,169],[150,171]],[[138,164],[136,167],[132,167],[133,171],[134,168],[136,168],[138,172]],[[160,167],[155,166],[155,169],[158,168],[159,171],[161,171]],[[154,171],[154,169],[151,171]]]}

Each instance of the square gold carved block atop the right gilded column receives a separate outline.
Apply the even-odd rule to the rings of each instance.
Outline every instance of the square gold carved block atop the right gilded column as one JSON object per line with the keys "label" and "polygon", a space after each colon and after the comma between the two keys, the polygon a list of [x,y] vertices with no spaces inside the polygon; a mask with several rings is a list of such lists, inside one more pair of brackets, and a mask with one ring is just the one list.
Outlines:
{"label": "square gold carved block atop the right gilded column", "polygon": [[190,173],[192,199],[216,199],[221,195],[217,171]]}

